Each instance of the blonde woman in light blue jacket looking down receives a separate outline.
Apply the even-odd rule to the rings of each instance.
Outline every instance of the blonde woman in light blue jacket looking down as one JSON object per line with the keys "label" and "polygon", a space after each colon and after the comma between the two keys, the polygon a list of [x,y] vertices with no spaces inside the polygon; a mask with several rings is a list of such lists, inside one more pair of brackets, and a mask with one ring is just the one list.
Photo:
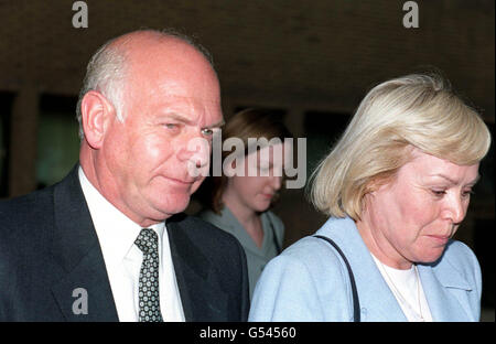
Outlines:
{"label": "blonde woman in light blue jacket looking down", "polygon": [[477,321],[481,269],[452,237],[489,144],[441,77],[376,86],[313,175],[330,219],[269,262],[249,319]]}

